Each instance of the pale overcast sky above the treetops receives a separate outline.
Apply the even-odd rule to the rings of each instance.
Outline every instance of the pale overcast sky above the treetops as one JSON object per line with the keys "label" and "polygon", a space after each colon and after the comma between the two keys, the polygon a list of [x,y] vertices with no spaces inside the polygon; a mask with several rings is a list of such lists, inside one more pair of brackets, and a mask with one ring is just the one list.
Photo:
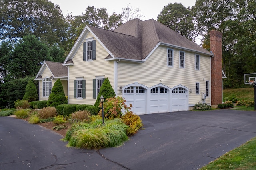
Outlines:
{"label": "pale overcast sky above the treetops", "polygon": [[97,8],[106,8],[108,15],[113,12],[121,14],[122,8],[126,8],[129,4],[131,8],[139,8],[140,13],[145,16],[141,20],[155,19],[162,11],[164,6],[175,2],[183,4],[185,7],[194,6],[196,0],[50,0],[54,4],[58,4],[62,10],[62,14],[72,13],[73,16],[81,15],[88,6]]}

